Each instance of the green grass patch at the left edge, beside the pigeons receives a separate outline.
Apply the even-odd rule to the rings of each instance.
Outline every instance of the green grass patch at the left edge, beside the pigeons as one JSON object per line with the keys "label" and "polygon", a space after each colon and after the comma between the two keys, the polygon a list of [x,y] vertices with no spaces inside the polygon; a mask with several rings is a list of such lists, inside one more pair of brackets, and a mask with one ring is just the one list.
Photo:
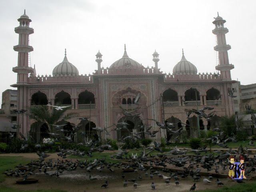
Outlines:
{"label": "green grass patch at the left edge, beside the pigeons", "polygon": [[30,162],[30,160],[21,156],[0,156],[0,182],[3,182],[5,178],[7,178],[5,174],[2,174],[7,169],[14,170],[14,167],[18,164],[27,164],[28,162]]}

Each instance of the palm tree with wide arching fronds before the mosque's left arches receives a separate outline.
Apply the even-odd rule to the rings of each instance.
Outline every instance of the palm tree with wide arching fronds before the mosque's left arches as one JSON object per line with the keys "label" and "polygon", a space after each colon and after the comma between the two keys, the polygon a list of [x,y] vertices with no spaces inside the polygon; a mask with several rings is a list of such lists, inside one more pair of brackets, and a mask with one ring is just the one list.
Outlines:
{"label": "palm tree with wide arching fronds before the mosque's left arches", "polygon": [[51,125],[66,121],[77,115],[77,113],[74,112],[66,113],[66,110],[68,109],[56,110],[53,108],[52,110],[48,110],[45,106],[42,106],[40,108],[30,108],[28,114],[29,117],[36,120],[36,122],[45,123],[48,126],[49,132],[51,132]]}

